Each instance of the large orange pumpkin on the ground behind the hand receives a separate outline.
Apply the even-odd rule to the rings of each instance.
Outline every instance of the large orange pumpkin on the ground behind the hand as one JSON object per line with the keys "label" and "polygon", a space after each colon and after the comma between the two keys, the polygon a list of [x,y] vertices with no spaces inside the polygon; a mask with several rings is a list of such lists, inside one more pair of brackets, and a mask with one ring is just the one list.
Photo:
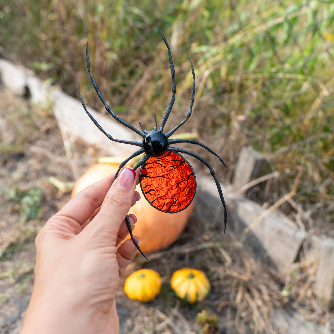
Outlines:
{"label": "large orange pumpkin on the ground behind the hand", "polygon": [[[118,167],[119,163],[99,163],[90,167],[87,172],[76,181],[71,198],[89,185],[115,173]],[[140,194],[142,193],[139,184],[136,190]],[[159,251],[177,239],[182,233],[192,212],[193,203],[194,202],[191,202],[183,211],[166,213],[155,209],[144,196],[141,195],[141,199],[136,202],[129,213],[137,217],[133,235],[138,236],[140,240],[139,245],[144,254]],[[129,238],[130,235],[126,237],[126,239]]]}

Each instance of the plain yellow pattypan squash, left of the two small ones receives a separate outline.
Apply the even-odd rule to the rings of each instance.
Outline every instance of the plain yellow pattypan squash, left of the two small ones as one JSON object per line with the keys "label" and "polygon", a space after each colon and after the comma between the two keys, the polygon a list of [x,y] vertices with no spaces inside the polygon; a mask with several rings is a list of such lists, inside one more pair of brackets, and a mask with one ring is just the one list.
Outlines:
{"label": "plain yellow pattypan squash, left of the two small ones", "polygon": [[125,281],[124,292],[130,299],[150,302],[161,291],[161,277],[152,269],[140,269]]}

